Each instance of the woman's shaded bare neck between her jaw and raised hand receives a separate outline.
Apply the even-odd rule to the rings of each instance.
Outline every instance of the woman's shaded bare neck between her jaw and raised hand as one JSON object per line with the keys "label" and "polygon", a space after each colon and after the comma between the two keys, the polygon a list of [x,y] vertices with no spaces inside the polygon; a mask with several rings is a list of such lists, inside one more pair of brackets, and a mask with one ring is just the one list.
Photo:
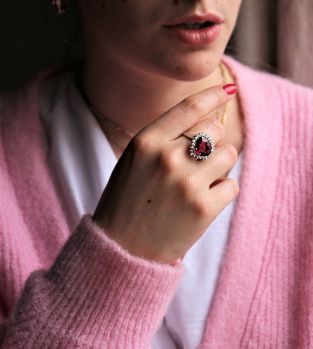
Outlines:
{"label": "woman's shaded bare neck between her jaw and raised hand", "polygon": [[97,110],[136,134],[187,96],[223,83],[223,77],[219,66],[201,80],[179,81],[149,75],[117,62],[87,59],[81,83],[87,99]]}

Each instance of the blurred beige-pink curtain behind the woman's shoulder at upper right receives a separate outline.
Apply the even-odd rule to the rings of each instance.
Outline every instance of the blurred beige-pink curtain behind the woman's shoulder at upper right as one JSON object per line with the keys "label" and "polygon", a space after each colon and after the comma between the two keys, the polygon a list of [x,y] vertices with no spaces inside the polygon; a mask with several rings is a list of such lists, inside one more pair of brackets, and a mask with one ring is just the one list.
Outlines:
{"label": "blurred beige-pink curtain behind the woman's shoulder at upper right", "polygon": [[313,88],[313,0],[243,0],[230,45],[244,64]]}

